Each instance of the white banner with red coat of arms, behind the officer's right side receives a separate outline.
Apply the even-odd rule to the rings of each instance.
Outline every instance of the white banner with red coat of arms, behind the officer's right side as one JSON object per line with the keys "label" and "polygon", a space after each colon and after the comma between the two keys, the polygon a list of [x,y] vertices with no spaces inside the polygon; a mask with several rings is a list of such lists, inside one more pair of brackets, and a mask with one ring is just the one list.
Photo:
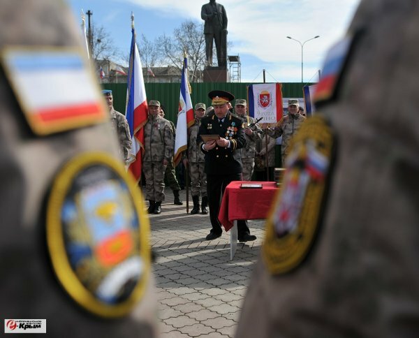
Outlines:
{"label": "white banner with red coat of arms, behind the officer's right side", "polygon": [[262,83],[248,87],[249,116],[259,124],[276,124],[282,118],[282,84]]}

